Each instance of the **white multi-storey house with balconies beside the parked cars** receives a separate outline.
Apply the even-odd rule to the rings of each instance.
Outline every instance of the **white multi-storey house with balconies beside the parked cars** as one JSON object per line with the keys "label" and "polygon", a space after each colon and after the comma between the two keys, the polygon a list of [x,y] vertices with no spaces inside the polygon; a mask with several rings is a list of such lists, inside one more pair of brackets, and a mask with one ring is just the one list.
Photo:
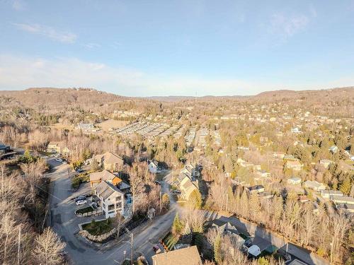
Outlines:
{"label": "white multi-storey house with balconies beside the parked cars", "polygon": [[96,203],[101,206],[105,218],[124,213],[124,193],[110,182],[101,182],[95,187]]}

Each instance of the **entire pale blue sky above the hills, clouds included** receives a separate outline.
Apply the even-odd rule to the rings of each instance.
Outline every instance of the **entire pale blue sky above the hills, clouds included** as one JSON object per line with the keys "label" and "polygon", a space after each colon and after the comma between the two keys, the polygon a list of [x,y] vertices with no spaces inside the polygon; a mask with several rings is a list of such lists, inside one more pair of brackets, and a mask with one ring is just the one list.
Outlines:
{"label": "entire pale blue sky above the hills, clouds included", "polygon": [[354,86],[354,1],[0,0],[0,90]]}

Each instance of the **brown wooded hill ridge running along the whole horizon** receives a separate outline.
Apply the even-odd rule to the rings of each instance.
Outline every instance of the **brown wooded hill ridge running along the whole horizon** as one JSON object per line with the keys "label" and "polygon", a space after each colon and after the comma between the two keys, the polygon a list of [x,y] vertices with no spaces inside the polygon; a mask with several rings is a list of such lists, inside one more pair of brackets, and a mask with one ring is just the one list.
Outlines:
{"label": "brown wooded hill ridge running along the whole horizon", "polygon": [[265,91],[258,95],[249,96],[212,96],[188,97],[188,96],[156,96],[129,98],[113,93],[101,92],[92,88],[28,88],[26,90],[0,91],[0,103],[2,106],[21,106],[31,108],[50,108],[59,110],[62,107],[97,107],[113,102],[124,100],[131,101],[224,101],[224,100],[250,100],[264,101],[272,100],[305,100],[313,102],[314,105],[321,105],[329,100],[354,100],[354,87],[333,88],[326,90],[275,90]]}

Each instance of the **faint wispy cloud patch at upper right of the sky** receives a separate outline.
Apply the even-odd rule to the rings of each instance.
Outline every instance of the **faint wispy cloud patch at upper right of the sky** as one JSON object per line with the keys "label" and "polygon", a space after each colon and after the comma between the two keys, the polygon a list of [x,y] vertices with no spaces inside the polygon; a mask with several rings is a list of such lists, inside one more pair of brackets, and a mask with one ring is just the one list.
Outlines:
{"label": "faint wispy cloud patch at upper right of the sky", "polygon": [[304,15],[288,16],[285,13],[274,13],[270,19],[270,33],[287,39],[306,28],[309,18]]}

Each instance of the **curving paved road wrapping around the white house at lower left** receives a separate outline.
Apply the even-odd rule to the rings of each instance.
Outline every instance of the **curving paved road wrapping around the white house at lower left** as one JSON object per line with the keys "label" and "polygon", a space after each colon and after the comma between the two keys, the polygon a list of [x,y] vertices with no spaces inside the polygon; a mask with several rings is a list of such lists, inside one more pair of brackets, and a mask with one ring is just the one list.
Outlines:
{"label": "curving paved road wrapping around the white house at lower left", "polygon": [[[89,222],[92,217],[77,218],[74,211],[77,207],[72,198],[89,192],[89,187],[80,188],[78,192],[71,191],[71,177],[68,174],[69,165],[61,165],[54,158],[48,159],[52,165],[53,172],[47,176],[52,179],[52,196],[50,201],[51,214],[48,223],[55,232],[67,243],[66,250],[72,264],[120,264],[126,257],[130,257],[130,237],[123,236],[120,242],[110,242],[108,245],[97,247],[90,245],[80,237],[76,237],[79,232],[79,223]],[[171,228],[175,216],[176,205],[164,216],[159,216],[152,223],[145,223],[139,228],[132,230],[133,252],[135,257],[143,253],[149,263],[152,264],[151,257],[154,254],[152,246],[159,242],[159,239]],[[102,219],[99,217],[96,220]],[[124,254],[126,253],[126,254]]]}

